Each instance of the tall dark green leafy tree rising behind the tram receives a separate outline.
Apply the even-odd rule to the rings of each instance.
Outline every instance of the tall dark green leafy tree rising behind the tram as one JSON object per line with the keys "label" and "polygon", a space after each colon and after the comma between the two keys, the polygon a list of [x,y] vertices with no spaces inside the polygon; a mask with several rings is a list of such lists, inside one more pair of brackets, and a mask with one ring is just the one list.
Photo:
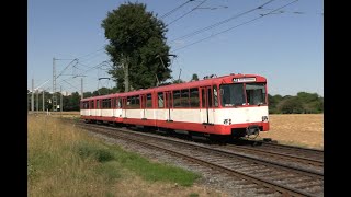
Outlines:
{"label": "tall dark green leafy tree rising behind the tram", "polygon": [[146,4],[121,4],[101,26],[110,42],[105,48],[113,62],[109,73],[120,92],[156,86],[171,78],[166,25],[146,11]]}

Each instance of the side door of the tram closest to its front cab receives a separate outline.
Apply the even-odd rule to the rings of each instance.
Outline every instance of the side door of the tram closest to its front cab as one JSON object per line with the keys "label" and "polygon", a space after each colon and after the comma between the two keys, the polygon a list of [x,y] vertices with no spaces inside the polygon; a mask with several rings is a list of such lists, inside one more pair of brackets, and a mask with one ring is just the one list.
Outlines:
{"label": "side door of the tram closest to its front cab", "polygon": [[202,86],[201,89],[201,97],[202,97],[202,120],[204,125],[213,125],[213,106],[212,106],[212,89],[211,86]]}

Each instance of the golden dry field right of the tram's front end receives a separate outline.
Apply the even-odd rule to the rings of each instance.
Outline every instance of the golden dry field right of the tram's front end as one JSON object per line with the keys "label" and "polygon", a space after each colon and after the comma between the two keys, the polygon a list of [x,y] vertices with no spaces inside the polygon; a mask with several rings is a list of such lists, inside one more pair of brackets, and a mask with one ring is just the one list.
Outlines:
{"label": "golden dry field right of the tram's front end", "polygon": [[270,130],[261,138],[272,138],[281,143],[324,149],[324,115],[270,115]]}

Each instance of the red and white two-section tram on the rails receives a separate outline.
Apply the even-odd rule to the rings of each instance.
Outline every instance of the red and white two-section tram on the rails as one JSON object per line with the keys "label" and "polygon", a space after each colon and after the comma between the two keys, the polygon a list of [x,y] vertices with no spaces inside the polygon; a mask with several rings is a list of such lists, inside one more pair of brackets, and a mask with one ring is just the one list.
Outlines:
{"label": "red and white two-section tram on the rails", "polygon": [[267,79],[229,74],[80,101],[86,121],[244,137],[269,130]]}

